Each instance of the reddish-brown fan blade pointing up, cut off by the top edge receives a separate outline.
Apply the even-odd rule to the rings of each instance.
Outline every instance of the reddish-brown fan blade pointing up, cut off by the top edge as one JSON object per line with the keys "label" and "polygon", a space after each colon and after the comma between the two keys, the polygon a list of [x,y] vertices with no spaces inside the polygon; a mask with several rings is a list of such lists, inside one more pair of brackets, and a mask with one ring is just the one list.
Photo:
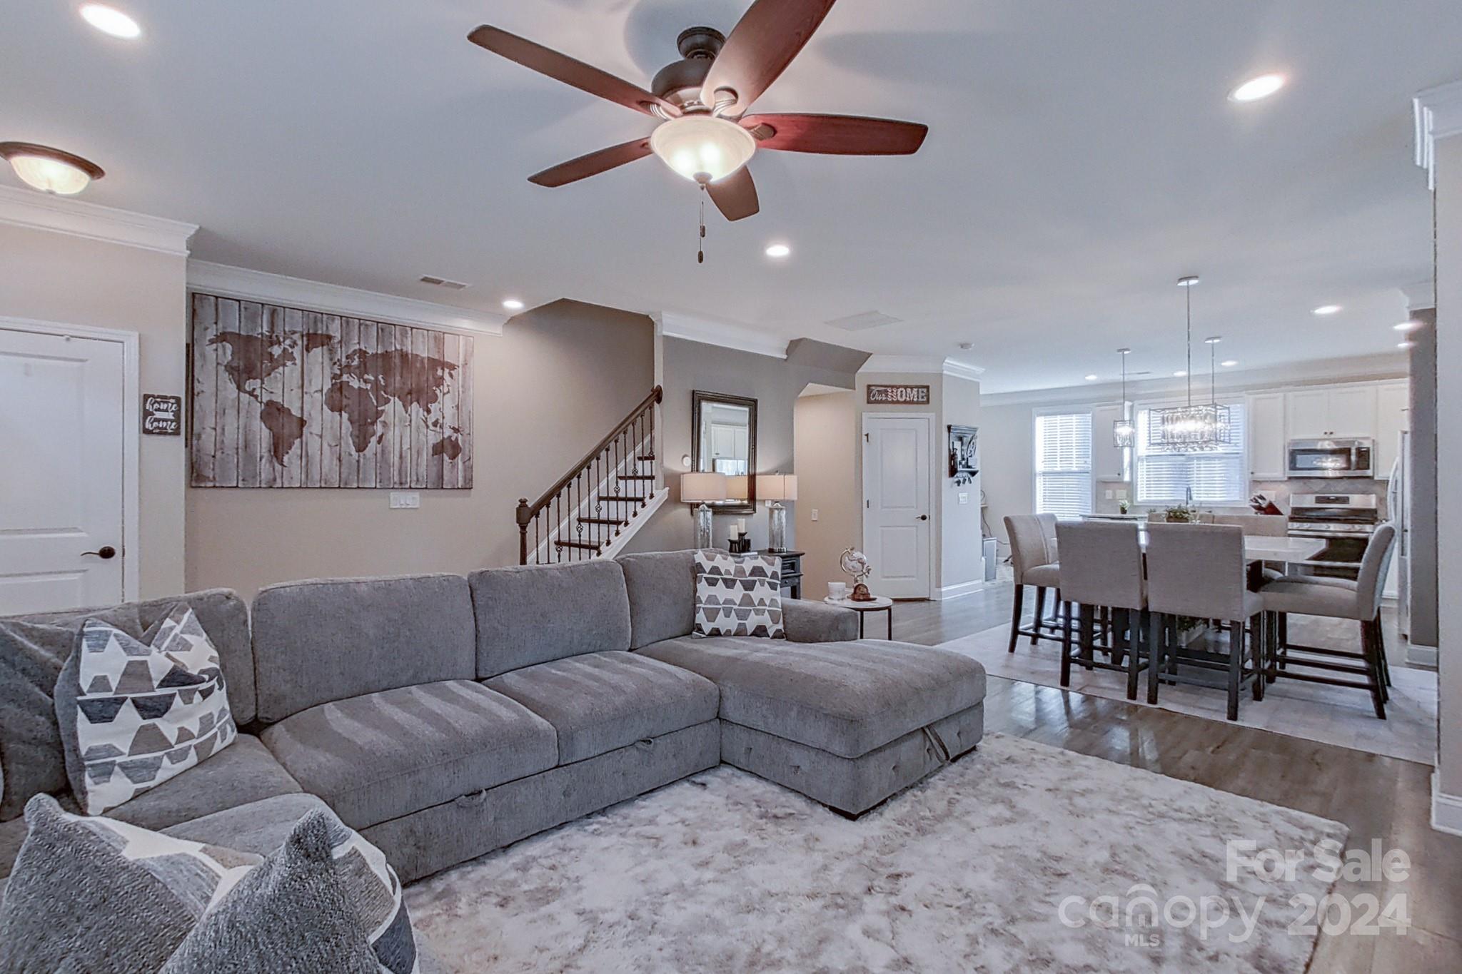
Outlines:
{"label": "reddish-brown fan blade pointing up, cut off by the top edge", "polygon": [[735,105],[724,114],[744,112],[787,70],[833,3],[835,0],[756,0],[711,63],[711,73],[700,88],[700,101],[715,107],[716,92],[731,89],[735,92]]}

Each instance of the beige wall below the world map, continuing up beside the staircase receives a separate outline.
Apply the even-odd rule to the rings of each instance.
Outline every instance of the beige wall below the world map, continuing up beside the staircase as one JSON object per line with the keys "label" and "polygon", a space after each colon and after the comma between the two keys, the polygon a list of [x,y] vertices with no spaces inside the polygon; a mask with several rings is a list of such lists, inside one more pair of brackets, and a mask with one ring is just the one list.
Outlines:
{"label": "beige wall below the world map, continuing up beside the staircase", "polygon": [[474,488],[189,488],[187,584],[246,594],[292,578],[466,572],[518,562],[513,513],[592,448],[654,386],[654,323],[558,301],[474,349]]}

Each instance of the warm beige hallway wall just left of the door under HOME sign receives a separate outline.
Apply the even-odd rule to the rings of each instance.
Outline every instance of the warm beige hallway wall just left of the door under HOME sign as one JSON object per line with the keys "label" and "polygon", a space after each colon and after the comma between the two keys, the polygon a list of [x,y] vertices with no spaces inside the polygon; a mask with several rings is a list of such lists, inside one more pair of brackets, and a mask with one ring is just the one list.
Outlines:
{"label": "warm beige hallway wall just left of the door under HOME sign", "polygon": [[[829,581],[848,581],[838,567],[844,549],[858,543],[863,517],[857,479],[858,402],[854,393],[804,396],[794,410],[797,453],[797,546],[803,558],[803,594],[820,599]],[[817,520],[811,520],[813,511]]]}

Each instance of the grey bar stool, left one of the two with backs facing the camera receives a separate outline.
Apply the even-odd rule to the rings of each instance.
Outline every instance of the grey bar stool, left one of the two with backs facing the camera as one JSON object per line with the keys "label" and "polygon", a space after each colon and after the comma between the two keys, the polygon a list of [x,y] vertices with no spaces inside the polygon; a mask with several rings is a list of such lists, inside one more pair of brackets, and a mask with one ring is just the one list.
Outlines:
{"label": "grey bar stool, left one of the two with backs facing the camera", "polygon": [[[1072,685],[1072,660],[1086,669],[1127,673],[1127,699],[1137,699],[1137,678],[1151,666],[1148,600],[1142,580],[1137,526],[1121,521],[1063,521],[1061,548],[1061,686]],[[1072,648],[1072,605],[1080,606],[1079,643]],[[1111,613],[1110,659],[1094,659],[1096,610]]]}

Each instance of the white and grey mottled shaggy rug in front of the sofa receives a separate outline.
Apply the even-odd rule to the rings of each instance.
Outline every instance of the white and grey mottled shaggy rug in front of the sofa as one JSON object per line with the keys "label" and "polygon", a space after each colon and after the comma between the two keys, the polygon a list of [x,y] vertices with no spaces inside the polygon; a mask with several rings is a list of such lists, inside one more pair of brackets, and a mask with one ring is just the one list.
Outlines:
{"label": "white and grey mottled shaggy rug in front of the sofa", "polygon": [[[459,971],[1272,974],[1306,970],[1316,935],[1289,929],[1291,898],[1329,891],[1314,850],[1345,838],[997,735],[858,821],[722,765],[406,898]],[[1230,841],[1254,844],[1232,875]],[[1303,860],[1268,878],[1262,850]]]}

